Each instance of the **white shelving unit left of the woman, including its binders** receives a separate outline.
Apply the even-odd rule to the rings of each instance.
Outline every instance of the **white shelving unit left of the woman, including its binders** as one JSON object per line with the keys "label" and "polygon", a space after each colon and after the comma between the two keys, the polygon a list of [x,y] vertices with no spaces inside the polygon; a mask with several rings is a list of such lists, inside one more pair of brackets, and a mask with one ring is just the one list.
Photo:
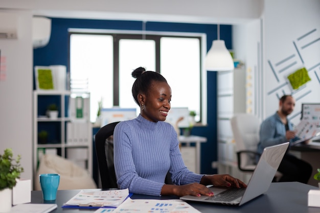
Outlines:
{"label": "white shelving unit left of the woman, including its binders", "polygon": [[[48,90],[33,92],[33,168],[44,153],[72,160],[92,175],[92,124],[88,92]],[[58,107],[58,117],[47,116],[49,105]],[[40,134],[47,137],[40,138]]]}

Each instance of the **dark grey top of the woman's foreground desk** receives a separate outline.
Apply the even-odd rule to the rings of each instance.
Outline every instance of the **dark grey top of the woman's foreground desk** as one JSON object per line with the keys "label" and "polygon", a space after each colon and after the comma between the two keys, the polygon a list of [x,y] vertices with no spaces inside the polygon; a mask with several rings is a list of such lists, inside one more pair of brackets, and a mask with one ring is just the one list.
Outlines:
{"label": "dark grey top of the woman's foreground desk", "polygon": [[[320,208],[308,207],[308,192],[310,189],[317,189],[314,186],[299,183],[299,182],[282,182],[271,183],[268,192],[242,206],[223,206],[214,204],[201,204],[190,203],[193,207],[199,211],[205,212],[259,212],[259,213],[283,213],[283,212],[319,212]],[[80,190],[61,190],[57,193],[57,200],[53,203],[58,205],[58,208],[52,212],[93,212],[96,209],[74,209],[74,208],[61,208],[62,204],[73,196],[75,196]],[[176,197],[154,197],[144,195],[133,195],[132,199],[176,199]],[[32,203],[45,203],[42,200],[41,191],[31,192]]]}

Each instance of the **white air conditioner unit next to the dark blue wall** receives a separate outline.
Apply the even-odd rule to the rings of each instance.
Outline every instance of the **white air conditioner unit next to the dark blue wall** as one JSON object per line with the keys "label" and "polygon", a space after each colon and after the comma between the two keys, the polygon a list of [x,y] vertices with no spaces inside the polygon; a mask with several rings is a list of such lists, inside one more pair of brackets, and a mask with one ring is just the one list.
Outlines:
{"label": "white air conditioner unit next to the dark blue wall", "polygon": [[32,18],[33,48],[42,48],[49,43],[51,36],[51,19],[46,17]]}

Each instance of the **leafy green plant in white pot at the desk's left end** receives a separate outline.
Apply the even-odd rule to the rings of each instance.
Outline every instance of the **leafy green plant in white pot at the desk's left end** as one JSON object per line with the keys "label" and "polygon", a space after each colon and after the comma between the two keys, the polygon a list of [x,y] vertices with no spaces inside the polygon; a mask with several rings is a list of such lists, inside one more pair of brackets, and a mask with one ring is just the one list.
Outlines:
{"label": "leafy green plant in white pot at the desk's left end", "polygon": [[20,166],[21,156],[14,159],[12,149],[5,149],[0,155],[0,212],[9,212],[12,206],[12,188],[16,185],[24,168]]}

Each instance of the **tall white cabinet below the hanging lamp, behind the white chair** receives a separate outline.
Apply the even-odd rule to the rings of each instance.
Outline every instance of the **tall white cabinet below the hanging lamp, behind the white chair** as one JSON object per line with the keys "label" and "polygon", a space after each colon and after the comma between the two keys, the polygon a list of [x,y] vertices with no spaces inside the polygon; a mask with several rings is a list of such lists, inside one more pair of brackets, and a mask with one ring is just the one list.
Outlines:
{"label": "tall white cabinet below the hanging lamp, behind the white chair", "polygon": [[218,173],[235,177],[239,172],[230,120],[235,113],[245,112],[245,78],[244,67],[217,73]]}

